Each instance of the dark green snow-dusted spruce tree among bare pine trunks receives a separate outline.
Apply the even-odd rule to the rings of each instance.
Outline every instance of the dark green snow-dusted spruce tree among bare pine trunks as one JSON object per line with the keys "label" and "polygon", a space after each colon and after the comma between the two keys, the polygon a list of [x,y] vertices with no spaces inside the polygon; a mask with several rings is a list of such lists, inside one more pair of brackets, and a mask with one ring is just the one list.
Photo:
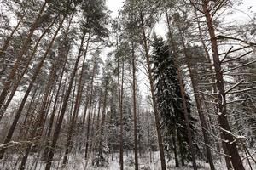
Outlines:
{"label": "dark green snow-dusted spruce tree among bare pine trunks", "polygon": [[[152,63],[154,75],[154,93],[160,111],[161,133],[165,137],[166,154],[170,160],[174,153],[176,167],[179,166],[177,145],[182,160],[189,160],[189,139],[182,107],[182,97],[177,80],[177,69],[174,66],[169,47],[162,38],[154,37]],[[189,95],[186,94],[187,110],[190,115]],[[189,116],[190,128],[195,133],[195,119]],[[177,142],[179,144],[177,144]]]}

